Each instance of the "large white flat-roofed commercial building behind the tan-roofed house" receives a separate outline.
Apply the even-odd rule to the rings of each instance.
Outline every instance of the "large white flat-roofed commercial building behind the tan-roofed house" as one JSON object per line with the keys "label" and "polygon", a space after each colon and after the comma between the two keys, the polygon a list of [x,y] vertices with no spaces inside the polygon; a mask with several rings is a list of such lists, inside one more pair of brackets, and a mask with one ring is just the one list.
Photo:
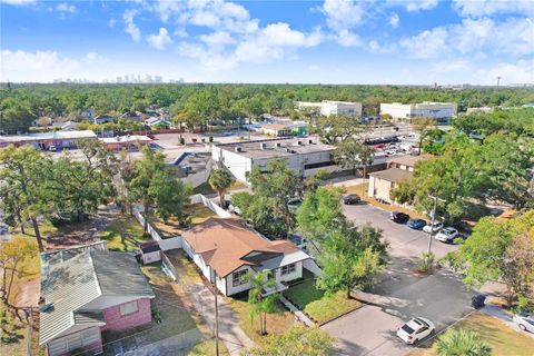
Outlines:
{"label": "large white flat-roofed commercial building behind the tan-roofed house", "polygon": [[334,150],[334,146],[320,144],[316,138],[269,139],[215,145],[211,158],[228,168],[237,180],[246,182],[253,167],[266,171],[274,159],[284,159],[301,177],[318,169],[338,171],[342,168],[333,160]]}

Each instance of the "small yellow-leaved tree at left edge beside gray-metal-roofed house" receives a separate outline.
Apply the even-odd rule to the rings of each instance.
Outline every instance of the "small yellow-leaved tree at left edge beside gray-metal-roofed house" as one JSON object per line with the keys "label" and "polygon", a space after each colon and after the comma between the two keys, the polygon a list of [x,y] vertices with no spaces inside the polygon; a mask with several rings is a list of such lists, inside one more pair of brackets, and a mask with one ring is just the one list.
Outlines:
{"label": "small yellow-leaved tree at left edge beside gray-metal-roofed house", "polygon": [[1,299],[9,305],[16,274],[23,273],[19,266],[28,258],[34,258],[38,245],[26,237],[16,236],[9,241],[0,244],[0,267],[2,269]]}

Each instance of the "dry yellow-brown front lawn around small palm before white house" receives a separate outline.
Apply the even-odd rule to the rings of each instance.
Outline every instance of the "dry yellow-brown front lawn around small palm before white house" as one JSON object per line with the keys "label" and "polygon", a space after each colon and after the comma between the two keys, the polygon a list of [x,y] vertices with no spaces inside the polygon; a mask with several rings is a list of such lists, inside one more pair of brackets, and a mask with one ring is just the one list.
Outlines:
{"label": "dry yellow-brown front lawn around small palm before white house", "polygon": [[[250,304],[245,300],[226,298],[234,312],[239,317],[239,325],[243,330],[255,343],[261,344],[265,336],[258,334],[257,319],[250,320]],[[281,304],[278,305],[279,313],[267,315],[267,333],[268,334],[284,334],[291,326],[295,325],[295,317],[290,312],[287,312]]]}

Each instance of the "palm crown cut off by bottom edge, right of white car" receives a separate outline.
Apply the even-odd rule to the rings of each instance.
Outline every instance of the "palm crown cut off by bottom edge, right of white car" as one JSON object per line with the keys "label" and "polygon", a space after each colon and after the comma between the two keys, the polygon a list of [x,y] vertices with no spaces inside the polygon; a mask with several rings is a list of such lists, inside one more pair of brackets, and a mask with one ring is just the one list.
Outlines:
{"label": "palm crown cut off by bottom edge, right of white car", "polygon": [[481,336],[466,329],[449,329],[434,345],[439,356],[490,356],[492,347]]}

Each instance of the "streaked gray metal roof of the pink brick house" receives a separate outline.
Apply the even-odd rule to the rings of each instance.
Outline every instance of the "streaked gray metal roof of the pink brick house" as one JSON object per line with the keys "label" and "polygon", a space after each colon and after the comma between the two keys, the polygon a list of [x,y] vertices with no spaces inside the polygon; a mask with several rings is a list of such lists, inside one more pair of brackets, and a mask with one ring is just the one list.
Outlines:
{"label": "streaked gray metal roof of the pink brick house", "polygon": [[41,295],[52,306],[40,313],[41,345],[78,323],[100,323],[98,310],[83,310],[100,296],[155,297],[134,256],[107,250],[86,250],[50,265],[41,278]]}

